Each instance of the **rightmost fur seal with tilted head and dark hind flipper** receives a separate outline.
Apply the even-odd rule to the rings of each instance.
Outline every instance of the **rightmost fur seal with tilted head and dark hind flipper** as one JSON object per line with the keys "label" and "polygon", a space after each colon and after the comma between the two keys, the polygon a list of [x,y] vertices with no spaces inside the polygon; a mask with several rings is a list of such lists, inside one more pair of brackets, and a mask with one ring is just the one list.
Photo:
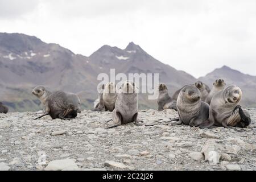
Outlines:
{"label": "rightmost fur seal with tilted head and dark hind flipper", "polygon": [[230,85],[216,93],[210,102],[209,121],[217,126],[246,127],[250,125],[251,118],[247,111],[239,104],[242,91],[236,85]]}

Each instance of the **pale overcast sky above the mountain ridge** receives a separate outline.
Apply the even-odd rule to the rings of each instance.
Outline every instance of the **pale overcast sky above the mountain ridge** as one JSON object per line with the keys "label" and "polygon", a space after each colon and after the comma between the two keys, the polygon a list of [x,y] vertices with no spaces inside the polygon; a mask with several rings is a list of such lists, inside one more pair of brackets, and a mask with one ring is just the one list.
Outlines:
{"label": "pale overcast sky above the mountain ridge", "polygon": [[0,32],[35,35],[85,56],[133,41],[195,77],[224,64],[256,76],[254,0],[0,0]]}

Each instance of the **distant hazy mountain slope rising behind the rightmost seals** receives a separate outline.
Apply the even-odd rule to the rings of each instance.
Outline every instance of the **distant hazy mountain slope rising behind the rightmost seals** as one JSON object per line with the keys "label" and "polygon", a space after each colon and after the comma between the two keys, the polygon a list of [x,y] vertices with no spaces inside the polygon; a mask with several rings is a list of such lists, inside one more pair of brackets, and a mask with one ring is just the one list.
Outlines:
{"label": "distant hazy mountain slope rising behind the rightmost seals", "polygon": [[199,80],[212,86],[217,78],[224,78],[227,85],[236,84],[243,92],[241,104],[244,106],[256,107],[256,76],[246,75],[229,67],[214,69]]}

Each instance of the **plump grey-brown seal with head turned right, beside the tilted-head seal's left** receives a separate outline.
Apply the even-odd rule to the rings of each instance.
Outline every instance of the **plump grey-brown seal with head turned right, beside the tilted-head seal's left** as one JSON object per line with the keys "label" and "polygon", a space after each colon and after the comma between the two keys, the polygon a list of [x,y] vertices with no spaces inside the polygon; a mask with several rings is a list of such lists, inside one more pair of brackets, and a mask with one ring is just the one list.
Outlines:
{"label": "plump grey-brown seal with head turned right, beside the tilted-head seal's left", "polygon": [[209,122],[209,105],[201,101],[201,92],[194,85],[184,86],[177,98],[179,118],[171,119],[171,124],[207,128],[214,124]]}

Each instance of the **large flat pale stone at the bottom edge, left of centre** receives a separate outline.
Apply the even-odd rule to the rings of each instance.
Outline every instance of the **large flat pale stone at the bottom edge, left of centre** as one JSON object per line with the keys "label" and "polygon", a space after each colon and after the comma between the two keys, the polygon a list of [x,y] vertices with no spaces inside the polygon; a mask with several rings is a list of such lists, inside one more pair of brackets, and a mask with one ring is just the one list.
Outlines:
{"label": "large flat pale stone at the bottom edge, left of centre", "polygon": [[77,166],[73,159],[53,160],[49,162],[48,166],[45,169],[46,171],[61,171],[63,169],[72,169],[72,171],[80,170],[80,168]]}

